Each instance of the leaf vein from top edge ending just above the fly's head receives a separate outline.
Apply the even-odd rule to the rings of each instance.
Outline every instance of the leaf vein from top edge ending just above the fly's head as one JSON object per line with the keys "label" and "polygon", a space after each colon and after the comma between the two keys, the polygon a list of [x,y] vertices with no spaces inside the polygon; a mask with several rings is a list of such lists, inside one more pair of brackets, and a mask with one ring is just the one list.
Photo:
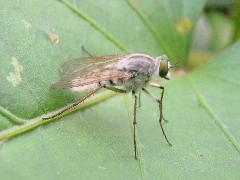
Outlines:
{"label": "leaf vein from top edge ending just above the fly's head", "polygon": [[157,28],[148,20],[145,13],[141,10],[141,7],[136,2],[134,2],[134,0],[128,0],[127,2],[130,5],[130,7],[136,12],[141,21],[145,24],[145,26],[149,29],[149,31],[159,44],[159,47],[161,47],[161,49],[163,49],[165,53],[172,57],[173,56],[172,51],[168,48],[168,46],[165,45],[160,32],[158,32]]}

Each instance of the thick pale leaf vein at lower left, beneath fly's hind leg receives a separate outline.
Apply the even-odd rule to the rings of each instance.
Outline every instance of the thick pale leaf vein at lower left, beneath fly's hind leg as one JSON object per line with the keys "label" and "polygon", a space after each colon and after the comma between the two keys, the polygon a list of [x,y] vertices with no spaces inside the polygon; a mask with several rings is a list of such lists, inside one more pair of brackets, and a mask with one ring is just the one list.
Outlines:
{"label": "thick pale leaf vein at lower left, beneath fly's hind leg", "polygon": [[[103,101],[105,101],[105,100],[107,100],[107,99],[109,99],[113,96],[116,96],[116,95],[117,94],[114,93],[114,92],[97,94],[94,97],[89,98],[89,100],[85,101],[85,103],[81,104],[78,109],[73,109],[72,111],[69,111],[69,112],[67,112],[67,113],[65,113],[61,116],[58,116],[56,118],[52,118],[52,119],[49,119],[49,120],[43,120],[42,117],[43,116],[49,116],[50,114],[58,112],[59,110],[57,110],[55,112],[45,114],[43,116],[40,116],[40,117],[37,117],[37,118],[34,118],[34,119],[24,120],[24,122],[25,122],[24,124],[13,126],[12,128],[9,128],[7,130],[4,130],[4,131],[0,132],[0,141],[5,140],[5,139],[9,139],[9,138],[13,138],[13,137],[18,136],[22,133],[30,131],[30,130],[38,127],[38,126],[41,126],[43,124],[50,123],[52,121],[60,119],[61,117],[66,116],[67,114],[69,114],[71,112],[88,108],[90,106],[93,106],[95,104],[103,102]],[[10,114],[13,115],[12,113],[10,113]],[[18,117],[15,116],[15,118],[18,118]]]}

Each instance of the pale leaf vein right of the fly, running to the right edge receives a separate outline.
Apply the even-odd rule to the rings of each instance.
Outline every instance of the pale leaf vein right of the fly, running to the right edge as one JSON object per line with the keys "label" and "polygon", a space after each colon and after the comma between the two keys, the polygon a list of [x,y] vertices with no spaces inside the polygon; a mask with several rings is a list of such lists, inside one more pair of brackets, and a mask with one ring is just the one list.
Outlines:
{"label": "pale leaf vein right of the fly, running to the right edge", "polygon": [[219,119],[219,117],[216,115],[216,113],[208,106],[207,102],[204,100],[203,96],[199,92],[199,90],[194,85],[193,80],[186,76],[186,80],[188,81],[188,84],[192,88],[195,96],[197,97],[199,103],[204,108],[204,110],[212,117],[212,120],[214,123],[220,128],[220,130],[223,132],[223,134],[226,136],[226,138],[231,142],[231,144],[234,146],[234,148],[238,151],[240,154],[240,144],[236,140],[236,138],[225,128],[224,123]]}

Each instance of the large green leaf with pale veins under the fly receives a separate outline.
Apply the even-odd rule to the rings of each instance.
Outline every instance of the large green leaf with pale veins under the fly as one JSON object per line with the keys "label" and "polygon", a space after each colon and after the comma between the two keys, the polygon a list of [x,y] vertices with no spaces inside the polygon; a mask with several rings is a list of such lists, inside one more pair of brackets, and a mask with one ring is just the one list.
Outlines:
{"label": "large green leaf with pale veins under the fly", "polygon": [[[203,4],[0,1],[1,178],[237,179],[240,43],[167,84],[164,114],[169,123],[164,128],[173,147],[159,128],[157,104],[142,96],[139,161],[133,158],[131,97],[99,103],[113,95],[99,94],[77,113],[49,124],[41,121],[42,114],[80,96],[49,87],[63,62],[84,55],[82,45],[97,55],[125,50],[159,55],[169,48],[170,56],[186,57],[191,30],[185,30],[190,21],[195,24]],[[51,44],[49,33],[58,36],[58,44]]]}

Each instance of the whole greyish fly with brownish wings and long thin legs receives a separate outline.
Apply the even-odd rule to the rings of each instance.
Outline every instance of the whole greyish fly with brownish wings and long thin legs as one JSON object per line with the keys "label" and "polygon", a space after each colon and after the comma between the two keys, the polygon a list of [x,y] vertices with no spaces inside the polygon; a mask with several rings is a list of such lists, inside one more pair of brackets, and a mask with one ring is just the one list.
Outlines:
{"label": "whole greyish fly with brownish wings and long thin legs", "polygon": [[[67,106],[60,112],[43,119],[52,119],[60,116],[64,112],[75,108],[100,89],[108,89],[117,93],[132,93],[134,97],[134,157],[137,159],[136,109],[138,104],[138,93],[143,91],[159,104],[160,127],[167,143],[171,146],[171,143],[169,142],[162,126],[162,101],[164,87],[158,84],[150,83],[151,78],[155,75],[168,79],[168,71],[173,66],[170,64],[167,56],[162,55],[154,58],[146,54],[136,53],[96,57],[92,56],[90,53],[88,54],[90,57],[83,57],[64,63],[60,70],[62,79],[53,84],[53,88],[67,88],[73,91],[88,90],[88,93],[77,102]],[[160,98],[156,97],[146,89],[148,84],[162,90]]]}

